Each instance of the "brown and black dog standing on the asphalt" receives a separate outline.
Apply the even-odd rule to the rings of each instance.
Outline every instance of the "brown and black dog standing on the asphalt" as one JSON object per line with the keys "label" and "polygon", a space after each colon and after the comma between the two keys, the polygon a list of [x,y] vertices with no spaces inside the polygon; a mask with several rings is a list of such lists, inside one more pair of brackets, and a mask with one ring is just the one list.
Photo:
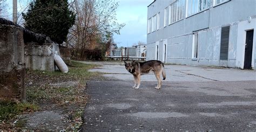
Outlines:
{"label": "brown and black dog standing on the asphalt", "polygon": [[[160,89],[161,87],[161,79],[160,74],[163,75],[163,80],[166,78],[165,69],[163,62],[159,60],[150,60],[145,62],[138,62],[133,60],[132,62],[125,62],[125,68],[128,72],[133,75],[134,78],[134,86],[132,88],[138,89],[140,86],[140,75],[147,74],[153,72],[156,75],[158,84],[156,89]],[[136,86],[137,85],[137,86]]]}

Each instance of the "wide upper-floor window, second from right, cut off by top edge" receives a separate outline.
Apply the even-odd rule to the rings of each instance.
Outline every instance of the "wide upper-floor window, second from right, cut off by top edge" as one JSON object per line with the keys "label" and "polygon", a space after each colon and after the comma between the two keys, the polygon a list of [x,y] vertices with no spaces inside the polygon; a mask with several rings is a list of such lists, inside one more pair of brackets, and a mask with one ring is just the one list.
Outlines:
{"label": "wide upper-floor window, second from right, cut off by top edge", "polygon": [[211,0],[187,0],[187,16],[210,8]]}

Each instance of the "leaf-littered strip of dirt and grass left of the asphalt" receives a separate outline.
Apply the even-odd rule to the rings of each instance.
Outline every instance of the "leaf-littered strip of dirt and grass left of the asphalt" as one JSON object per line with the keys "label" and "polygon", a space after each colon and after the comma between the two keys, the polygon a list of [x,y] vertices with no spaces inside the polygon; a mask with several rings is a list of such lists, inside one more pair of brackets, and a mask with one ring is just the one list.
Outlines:
{"label": "leaf-littered strip of dirt and grass left of the asphalt", "polygon": [[86,81],[99,78],[87,70],[95,65],[69,67],[70,72],[26,71],[26,99],[39,107],[38,112],[25,112],[0,123],[1,130],[77,131],[83,123],[86,106]]}

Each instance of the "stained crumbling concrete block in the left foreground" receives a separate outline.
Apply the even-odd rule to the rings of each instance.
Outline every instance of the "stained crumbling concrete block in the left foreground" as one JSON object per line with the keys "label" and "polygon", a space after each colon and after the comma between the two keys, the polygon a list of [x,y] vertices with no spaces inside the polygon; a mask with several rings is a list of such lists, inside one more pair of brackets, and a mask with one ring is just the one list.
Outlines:
{"label": "stained crumbling concrete block in the left foreground", "polygon": [[24,40],[21,28],[0,25],[0,100],[25,100]]}

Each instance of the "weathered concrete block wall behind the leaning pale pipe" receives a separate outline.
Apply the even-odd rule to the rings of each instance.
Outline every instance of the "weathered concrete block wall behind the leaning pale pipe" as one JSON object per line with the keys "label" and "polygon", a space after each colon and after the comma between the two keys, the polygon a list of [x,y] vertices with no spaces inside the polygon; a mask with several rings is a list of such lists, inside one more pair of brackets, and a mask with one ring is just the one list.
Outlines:
{"label": "weathered concrete block wall behind the leaning pale pipe", "polygon": [[55,43],[44,43],[39,45],[35,42],[25,44],[26,69],[55,71],[54,54],[59,54],[59,45]]}

